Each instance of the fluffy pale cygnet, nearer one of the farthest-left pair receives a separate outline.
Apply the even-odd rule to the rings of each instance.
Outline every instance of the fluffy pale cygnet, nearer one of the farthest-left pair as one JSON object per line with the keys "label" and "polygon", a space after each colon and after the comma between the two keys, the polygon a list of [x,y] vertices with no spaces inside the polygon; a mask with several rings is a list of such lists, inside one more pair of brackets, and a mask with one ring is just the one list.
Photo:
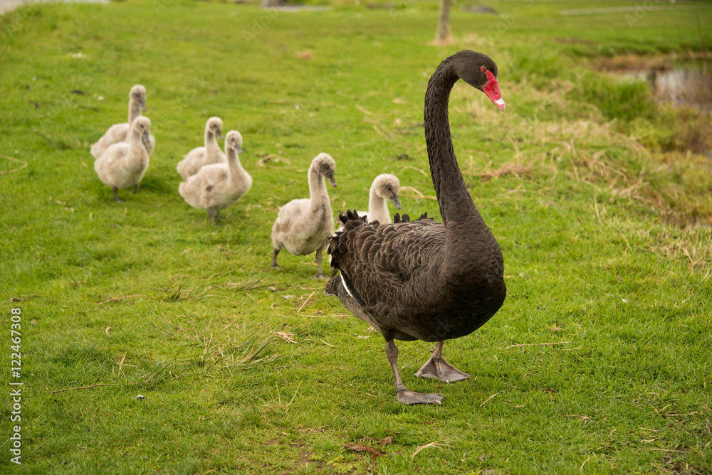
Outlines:
{"label": "fluffy pale cygnet, nearer one of the farthest-left pair", "polygon": [[150,132],[150,119],[137,117],[131,124],[129,142],[111,144],[94,161],[94,170],[99,179],[113,189],[115,201],[122,201],[116,193],[119,188],[133,186],[134,194],[138,191],[138,183],[148,168],[146,144],[150,140]]}

